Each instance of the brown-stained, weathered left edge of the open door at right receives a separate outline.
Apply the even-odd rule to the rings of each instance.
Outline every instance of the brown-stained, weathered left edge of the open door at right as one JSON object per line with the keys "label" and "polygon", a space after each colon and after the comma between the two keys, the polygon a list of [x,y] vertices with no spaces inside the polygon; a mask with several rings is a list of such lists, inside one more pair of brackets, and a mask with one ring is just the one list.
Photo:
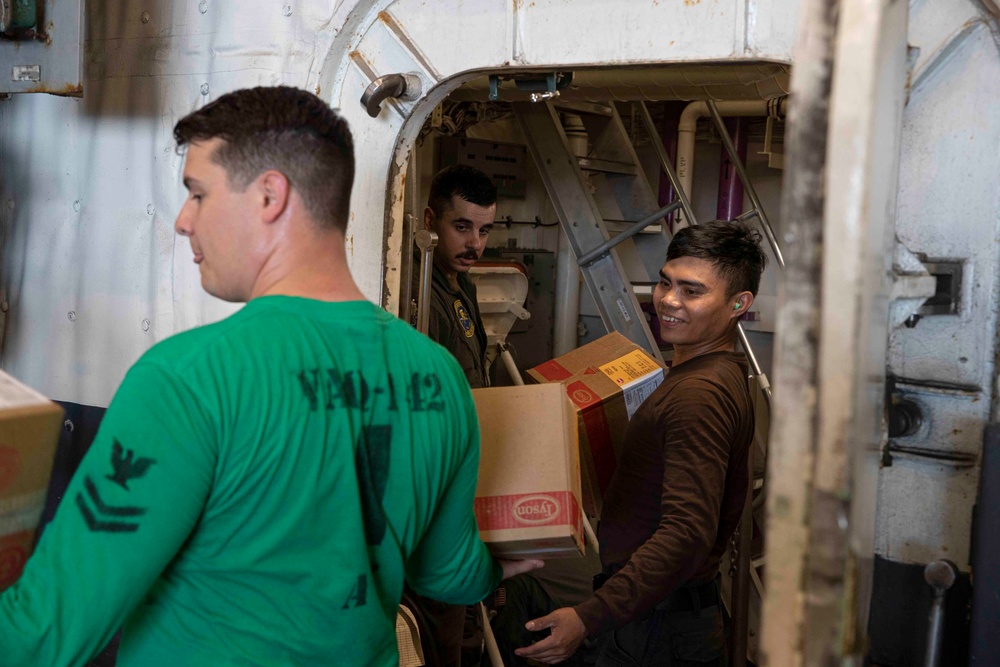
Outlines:
{"label": "brown-stained, weathered left edge of the open door at right", "polygon": [[785,134],[782,245],[767,470],[767,558],[762,664],[803,664],[810,496],[819,419],[823,174],[836,3],[806,0],[795,49]]}

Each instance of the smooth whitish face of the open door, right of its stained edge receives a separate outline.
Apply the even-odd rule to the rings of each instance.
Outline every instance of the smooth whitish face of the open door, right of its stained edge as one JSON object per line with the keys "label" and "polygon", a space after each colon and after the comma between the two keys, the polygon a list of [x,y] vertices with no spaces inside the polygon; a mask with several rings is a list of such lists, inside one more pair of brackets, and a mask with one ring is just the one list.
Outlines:
{"label": "smooth whitish face of the open door, right of its stained edge", "polygon": [[[895,0],[856,0],[840,7],[826,167],[822,408],[811,527],[811,553],[814,557],[817,544],[828,545],[835,576],[822,563],[810,568],[806,664],[830,658],[861,664],[867,649],[907,17],[908,4]],[[840,597],[857,606],[842,607]],[[836,637],[812,637],[817,619],[835,620]]]}

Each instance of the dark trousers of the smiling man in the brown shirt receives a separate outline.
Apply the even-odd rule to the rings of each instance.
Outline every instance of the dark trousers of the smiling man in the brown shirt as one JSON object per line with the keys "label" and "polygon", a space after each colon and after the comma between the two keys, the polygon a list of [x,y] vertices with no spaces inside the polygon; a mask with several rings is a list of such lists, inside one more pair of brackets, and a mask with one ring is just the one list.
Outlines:
{"label": "dark trousers of the smiling man in the brown shirt", "polygon": [[651,614],[601,636],[597,667],[726,667],[718,593],[699,601],[680,589]]}

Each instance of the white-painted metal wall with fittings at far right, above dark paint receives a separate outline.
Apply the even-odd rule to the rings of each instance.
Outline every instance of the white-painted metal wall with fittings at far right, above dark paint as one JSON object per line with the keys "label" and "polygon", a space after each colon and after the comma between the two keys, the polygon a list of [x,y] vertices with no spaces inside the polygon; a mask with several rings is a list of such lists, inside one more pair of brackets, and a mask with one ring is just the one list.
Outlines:
{"label": "white-painted metal wall with fittings at far right, above dark paint", "polygon": [[[896,234],[912,252],[962,264],[954,315],[898,327],[887,364],[924,425],[890,442],[879,481],[876,553],[904,563],[948,557],[969,571],[983,424],[995,411],[1000,230],[1000,49],[971,0],[918,3],[919,48],[903,117]],[[897,456],[899,450],[902,455]],[[963,467],[964,466],[964,467]]]}

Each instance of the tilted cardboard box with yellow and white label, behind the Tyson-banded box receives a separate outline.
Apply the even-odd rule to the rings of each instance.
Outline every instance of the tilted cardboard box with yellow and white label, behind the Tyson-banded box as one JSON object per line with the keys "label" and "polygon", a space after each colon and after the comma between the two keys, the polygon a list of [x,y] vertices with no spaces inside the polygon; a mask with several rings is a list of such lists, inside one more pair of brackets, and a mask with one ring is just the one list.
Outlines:
{"label": "tilted cardboard box with yellow and white label, behind the Tyson-banded box", "polygon": [[628,421],[663,382],[663,366],[615,332],[532,368],[528,377],[565,385],[579,424],[583,507],[600,516]]}

